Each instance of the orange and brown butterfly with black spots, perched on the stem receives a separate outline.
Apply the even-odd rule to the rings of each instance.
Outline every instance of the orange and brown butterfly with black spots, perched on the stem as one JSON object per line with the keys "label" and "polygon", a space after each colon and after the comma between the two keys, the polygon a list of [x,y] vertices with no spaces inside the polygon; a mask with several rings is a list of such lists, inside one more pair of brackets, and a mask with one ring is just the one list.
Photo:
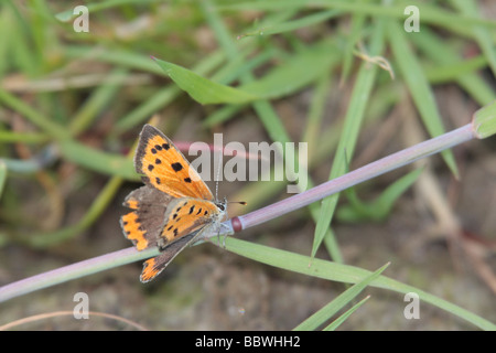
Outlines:
{"label": "orange and brown butterfly with black spots, perched on the stem", "polygon": [[144,186],[132,191],[123,205],[133,210],[120,218],[125,236],[138,250],[159,247],[147,260],[141,281],[155,278],[203,229],[218,227],[226,201],[214,200],[208,186],[172,141],[151,125],[140,133],[134,168]]}

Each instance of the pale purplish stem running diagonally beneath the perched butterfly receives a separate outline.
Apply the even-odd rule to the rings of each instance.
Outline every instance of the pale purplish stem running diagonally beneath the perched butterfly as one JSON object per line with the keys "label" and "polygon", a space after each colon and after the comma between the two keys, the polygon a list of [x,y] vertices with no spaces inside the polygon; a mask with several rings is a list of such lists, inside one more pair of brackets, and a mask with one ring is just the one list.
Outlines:
{"label": "pale purplish stem running diagonally beneath the perched butterfly", "polygon": [[[364,165],[345,175],[333,179],[309,191],[288,197],[272,205],[250,212],[246,215],[235,217],[224,223],[226,227],[239,232],[255,225],[259,225],[291,211],[298,210],[313,202],[322,200],[333,193],[343,191],[356,185],[365,180],[384,174],[396,168],[406,165],[421,158],[440,152],[455,145],[463,143],[475,138],[472,124],[467,124],[456,130],[423,141],[402,151],[385,157],[378,161]],[[237,225],[233,227],[233,221],[237,220]],[[241,227],[239,227],[239,224]],[[207,233],[207,232],[205,232]],[[209,232],[204,238],[218,236],[218,232]],[[202,242],[202,240],[200,240]],[[197,242],[196,244],[198,244]],[[40,274],[20,281],[0,287],[0,302],[15,298],[31,291],[62,284],[64,281],[91,275],[105,269],[117,267],[155,256],[159,250],[155,248],[138,252],[133,247],[101,255],[77,264],[65,266],[48,272]]]}

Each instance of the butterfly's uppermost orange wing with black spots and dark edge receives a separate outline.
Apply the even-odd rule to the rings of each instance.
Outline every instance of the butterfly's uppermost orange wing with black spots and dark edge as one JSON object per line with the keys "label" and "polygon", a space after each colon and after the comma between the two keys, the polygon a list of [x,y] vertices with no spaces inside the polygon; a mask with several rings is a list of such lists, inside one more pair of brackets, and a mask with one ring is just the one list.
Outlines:
{"label": "butterfly's uppermost orange wing with black spots and dark edge", "polygon": [[134,156],[136,171],[147,184],[173,197],[213,200],[208,186],[172,141],[151,125],[140,135]]}

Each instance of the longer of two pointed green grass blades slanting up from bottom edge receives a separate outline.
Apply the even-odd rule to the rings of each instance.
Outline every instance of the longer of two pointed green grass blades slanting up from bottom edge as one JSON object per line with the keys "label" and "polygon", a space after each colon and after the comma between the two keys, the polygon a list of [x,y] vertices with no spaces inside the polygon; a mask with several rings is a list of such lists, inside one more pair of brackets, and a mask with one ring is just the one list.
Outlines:
{"label": "longer of two pointed green grass blades slanting up from bottom edge", "polygon": [[337,311],[342,310],[348,302],[355,299],[374,279],[378,278],[380,274],[389,266],[389,263],[380,267],[371,275],[364,278],[362,281],[353,285],[346,289],[333,301],[323,307],[321,310],[312,314],[305,321],[294,328],[295,331],[316,330],[325,321],[330,320]]}

